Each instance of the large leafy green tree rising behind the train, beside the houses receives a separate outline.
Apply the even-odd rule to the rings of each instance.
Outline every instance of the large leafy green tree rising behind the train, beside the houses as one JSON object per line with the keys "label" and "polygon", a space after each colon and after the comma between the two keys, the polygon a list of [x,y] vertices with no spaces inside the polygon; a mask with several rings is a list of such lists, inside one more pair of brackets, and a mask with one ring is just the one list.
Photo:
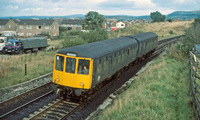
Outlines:
{"label": "large leafy green tree rising behind the train, beside the houses", "polygon": [[103,21],[103,15],[95,11],[90,11],[85,15],[85,20],[82,24],[82,27],[86,30],[98,30],[102,27]]}

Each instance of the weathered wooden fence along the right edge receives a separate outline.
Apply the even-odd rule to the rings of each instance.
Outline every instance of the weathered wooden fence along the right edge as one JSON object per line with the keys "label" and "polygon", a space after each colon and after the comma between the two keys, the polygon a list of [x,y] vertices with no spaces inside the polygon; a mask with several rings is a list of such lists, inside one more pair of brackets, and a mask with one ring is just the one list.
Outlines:
{"label": "weathered wooden fence along the right edge", "polygon": [[193,111],[196,120],[200,120],[200,55],[190,52],[190,89],[193,97]]}

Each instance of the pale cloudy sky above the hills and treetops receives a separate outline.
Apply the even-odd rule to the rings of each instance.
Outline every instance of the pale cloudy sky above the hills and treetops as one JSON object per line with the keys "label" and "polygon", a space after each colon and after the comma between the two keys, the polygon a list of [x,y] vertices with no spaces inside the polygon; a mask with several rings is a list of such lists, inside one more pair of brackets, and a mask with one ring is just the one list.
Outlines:
{"label": "pale cloudy sky above the hills and treetops", "polygon": [[200,0],[0,0],[0,16],[150,15],[200,10]]}

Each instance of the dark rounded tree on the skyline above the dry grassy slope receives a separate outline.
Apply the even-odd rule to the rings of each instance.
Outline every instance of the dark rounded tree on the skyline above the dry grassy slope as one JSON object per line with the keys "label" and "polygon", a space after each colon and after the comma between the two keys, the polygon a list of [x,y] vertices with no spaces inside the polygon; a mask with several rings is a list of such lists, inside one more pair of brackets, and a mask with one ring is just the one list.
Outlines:
{"label": "dark rounded tree on the skyline above the dry grassy slope", "polygon": [[160,12],[152,12],[151,14],[151,19],[153,22],[164,22],[165,21],[165,15],[162,15]]}

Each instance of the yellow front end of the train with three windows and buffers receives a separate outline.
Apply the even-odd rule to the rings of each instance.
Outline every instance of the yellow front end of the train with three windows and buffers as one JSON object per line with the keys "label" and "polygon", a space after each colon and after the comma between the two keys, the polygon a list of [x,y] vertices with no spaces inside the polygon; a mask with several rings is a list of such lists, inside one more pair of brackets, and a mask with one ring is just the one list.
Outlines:
{"label": "yellow front end of the train with three windows and buffers", "polygon": [[54,59],[53,83],[57,94],[65,97],[81,96],[92,85],[93,60],[76,55],[56,54]]}

